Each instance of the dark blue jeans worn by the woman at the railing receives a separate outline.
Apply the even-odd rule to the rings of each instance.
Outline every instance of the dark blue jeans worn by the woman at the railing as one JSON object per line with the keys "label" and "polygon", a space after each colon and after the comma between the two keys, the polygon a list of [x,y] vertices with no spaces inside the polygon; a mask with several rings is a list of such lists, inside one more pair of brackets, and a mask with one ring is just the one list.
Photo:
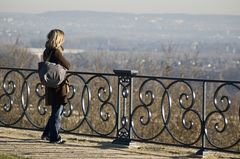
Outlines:
{"label": "dark blue jeans worn by the woman at the railing", "polygon": [[48,136],[50,141],[56,141],[59,138],[63,105],[53,105],[51,107],[52,113],[43,131],[43,136]]}

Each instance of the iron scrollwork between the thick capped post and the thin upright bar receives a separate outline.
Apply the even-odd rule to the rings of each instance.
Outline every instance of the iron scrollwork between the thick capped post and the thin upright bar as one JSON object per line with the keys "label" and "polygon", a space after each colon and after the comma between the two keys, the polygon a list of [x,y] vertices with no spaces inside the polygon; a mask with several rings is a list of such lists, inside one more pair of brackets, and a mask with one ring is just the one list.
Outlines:
{"label": "iron scrollwork between the thick capped post and the thin upright bar", "polygon": [[[146,141],[167,139],[167,133],[174,143],[181,145],[191,146],[199,141],[201,127],[197,125],[201,123],[201,115],[194,108],[196,97],[189,83],[181,80],[166,85],[158,78],[149,78],[140,85],[138,97],[141,104],[132,114],[133,132],[137,138]],[[147,129],[154,131],[142,131]],[[188,140],[193,132],[194,136]]]}

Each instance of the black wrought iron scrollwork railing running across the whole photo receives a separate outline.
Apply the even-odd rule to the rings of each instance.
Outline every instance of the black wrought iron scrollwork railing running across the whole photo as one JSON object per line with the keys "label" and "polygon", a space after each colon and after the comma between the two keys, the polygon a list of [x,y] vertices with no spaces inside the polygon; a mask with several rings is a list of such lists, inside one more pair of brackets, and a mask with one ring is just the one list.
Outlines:
{"label": "black wrought iron scrollwork railing running across the whole photo", "polygon": [[[0,68],[0,125],[44,128],[50,115],[37,70]],[[71,72],[62,130],[240,153],[240,82]],[[57,100],[57,99],[56,99]]]}

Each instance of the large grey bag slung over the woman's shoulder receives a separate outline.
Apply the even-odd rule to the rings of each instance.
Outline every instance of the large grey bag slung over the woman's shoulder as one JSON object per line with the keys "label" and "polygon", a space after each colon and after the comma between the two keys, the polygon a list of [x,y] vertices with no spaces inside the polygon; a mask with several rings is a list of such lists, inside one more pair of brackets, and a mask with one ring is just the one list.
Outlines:
{"label": "large grey bag slung over the woman's shoulder", "polygon": [[52,52],[46,61],[38,63],[38,75],[41,83],[50,88],[57,88],[66,78],[66,68],[60,64],[49,62]]}

